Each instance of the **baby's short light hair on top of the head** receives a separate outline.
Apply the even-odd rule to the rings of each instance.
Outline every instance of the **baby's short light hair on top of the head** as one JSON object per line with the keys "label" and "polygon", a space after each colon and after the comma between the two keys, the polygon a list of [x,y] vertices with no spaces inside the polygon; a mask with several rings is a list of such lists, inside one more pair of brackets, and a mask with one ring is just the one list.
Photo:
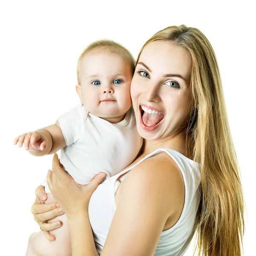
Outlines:
{"label": "baby's short light hair on top of the head", "polygon": [[119,44],[113,40],[100,39],[100,40],[94,41],[91,44],[89,44],[83,50],[83,52],[81,53],[81,55],[78,58],[76,75],[77,75],[77,81],[79,84],[80,84],[79,72],[80,72],[81,61],[88,52],[91,52],[93,50],[103,50],[106,52],[110,52],[110,53],[114,53],[114,54],[122,56],[124,59],[126,59],[127,61],[129,61],[131,63],[131,72],[132,72],[132,74],[134,73],[136,61],[135,61],[133,55],[131,54],[131,52],[128,49],[126,49],[125,47],[123,47],[121,44]]}

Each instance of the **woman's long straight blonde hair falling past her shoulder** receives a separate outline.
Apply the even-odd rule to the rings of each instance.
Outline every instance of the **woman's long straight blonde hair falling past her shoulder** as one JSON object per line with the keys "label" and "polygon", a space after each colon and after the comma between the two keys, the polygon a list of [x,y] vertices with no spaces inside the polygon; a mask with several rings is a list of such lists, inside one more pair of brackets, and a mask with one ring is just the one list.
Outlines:
{"label": "woman's long straight blonde hair falling past her shoulder", "polygon": [[193,160],[201,169],[197,255],[239,256],[244,235],[244,196],[215,52],[199,29],[169,26],[144,44],[137,62],[145,46],[156,40],[185,48],[192,59],[189,86],[193,100],[186,136],[190,139],[187,141],[192,139]]}

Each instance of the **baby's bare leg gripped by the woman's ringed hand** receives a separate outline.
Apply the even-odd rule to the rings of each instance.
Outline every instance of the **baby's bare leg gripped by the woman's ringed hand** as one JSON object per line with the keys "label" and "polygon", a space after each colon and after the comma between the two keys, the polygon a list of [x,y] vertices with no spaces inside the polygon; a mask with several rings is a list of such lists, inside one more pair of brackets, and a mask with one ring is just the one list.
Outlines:
{"label": "baby's bare leg gripped by the woman's ringed hand", "polygon": [[[46,203],[55,202],[51,193],[47,193]],[[54,235],[56,240],[49,241],[44,231],[32,233],[29,237],[29,244],[26,256],[71,256],[71,243],[70,235],[67,226],[67,215],[63,214],[56,218],[49,220],[49,223],[57,220],[62,221],[62,226],[56,230],[50,231],[51,235]]]}

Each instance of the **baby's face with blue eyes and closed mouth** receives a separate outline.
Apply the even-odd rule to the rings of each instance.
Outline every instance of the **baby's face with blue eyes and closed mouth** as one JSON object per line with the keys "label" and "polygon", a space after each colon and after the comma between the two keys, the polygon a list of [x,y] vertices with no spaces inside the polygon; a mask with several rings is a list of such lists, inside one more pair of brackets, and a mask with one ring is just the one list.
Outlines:
{"label": "baby's face with blue eyes and closed mouth", "polygon": [[132,76],[131,64],[122,56],[92,51],[81,60],[77,92],[87,111],[118,122],[131,108]]}

